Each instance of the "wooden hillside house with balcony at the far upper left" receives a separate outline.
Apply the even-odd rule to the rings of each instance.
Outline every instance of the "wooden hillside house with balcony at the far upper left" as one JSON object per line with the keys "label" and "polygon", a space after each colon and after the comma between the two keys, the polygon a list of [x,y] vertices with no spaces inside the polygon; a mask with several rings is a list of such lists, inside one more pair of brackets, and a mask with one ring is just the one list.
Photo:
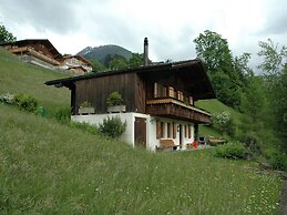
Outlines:
{"label": "wooden hillside house with balcony at the far upper left", "polygon": [[24,61],[54,69],[59,66],[62,55],[47,39],[19,40],[0,44],[11,53],[20,55]]}

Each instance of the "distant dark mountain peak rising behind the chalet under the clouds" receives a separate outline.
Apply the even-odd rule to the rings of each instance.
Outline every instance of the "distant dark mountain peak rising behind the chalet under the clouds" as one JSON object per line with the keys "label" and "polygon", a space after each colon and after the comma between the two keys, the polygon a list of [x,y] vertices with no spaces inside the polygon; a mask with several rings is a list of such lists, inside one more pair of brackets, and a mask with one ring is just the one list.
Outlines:
{"label": "distant dark mountain peak rising behind the chalet under the clouds", "polygon": [[115,44],[107,44],[107,45],[101,45],[101,47],[86,47],[82,51],[78,53],[79,55],[82,55],[86,58],[88,60],[96,59],[101,63],[104,64],[106,55],[122,55],[125,59],[132,58],[132,52]]}

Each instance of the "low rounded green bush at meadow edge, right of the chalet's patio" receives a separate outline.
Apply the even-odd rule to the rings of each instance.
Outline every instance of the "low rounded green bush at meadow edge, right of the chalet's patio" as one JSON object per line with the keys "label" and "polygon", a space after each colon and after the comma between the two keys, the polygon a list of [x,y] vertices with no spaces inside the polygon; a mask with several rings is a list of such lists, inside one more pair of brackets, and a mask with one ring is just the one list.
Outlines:
{"label": "low rounded green bush at meadow edge, right of the chalet's patio", "polygon": [[240,143],[230,143],[216,147],[215,156],[224,158],[245,158],[246,150]]}

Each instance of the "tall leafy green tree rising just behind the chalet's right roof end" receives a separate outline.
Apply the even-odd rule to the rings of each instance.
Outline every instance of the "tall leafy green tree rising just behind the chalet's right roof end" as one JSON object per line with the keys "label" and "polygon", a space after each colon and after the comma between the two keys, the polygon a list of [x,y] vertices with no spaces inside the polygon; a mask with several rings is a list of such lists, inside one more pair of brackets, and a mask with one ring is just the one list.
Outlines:
{"label": "tall leafy green tree rising just behind the chalet's right roof end", "polygon": [[228,42],[221,34],[204,31],[195,40],[197,57],[203,60],[219,101],[238,109],[249,54],[233,58]]}

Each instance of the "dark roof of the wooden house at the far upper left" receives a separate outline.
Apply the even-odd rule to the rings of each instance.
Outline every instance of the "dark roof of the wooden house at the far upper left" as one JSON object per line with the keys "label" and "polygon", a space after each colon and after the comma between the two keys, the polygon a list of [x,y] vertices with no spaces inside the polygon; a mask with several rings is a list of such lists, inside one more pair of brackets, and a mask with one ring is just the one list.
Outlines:
{"label": "dark roof of the wooden house at the far upper left", "polygon": [[49,52],[51,52],[55,58],[59,59],[62,58],[62,54],[54,48],[54,45],[48,40],[48,39],[27,39],[27,40],[18,40],[14,42],[6,42],[1,43],[0,45],[7,45],[7,44],[13,44],[19,47],[24,47],[29,44],[43,44]]}

